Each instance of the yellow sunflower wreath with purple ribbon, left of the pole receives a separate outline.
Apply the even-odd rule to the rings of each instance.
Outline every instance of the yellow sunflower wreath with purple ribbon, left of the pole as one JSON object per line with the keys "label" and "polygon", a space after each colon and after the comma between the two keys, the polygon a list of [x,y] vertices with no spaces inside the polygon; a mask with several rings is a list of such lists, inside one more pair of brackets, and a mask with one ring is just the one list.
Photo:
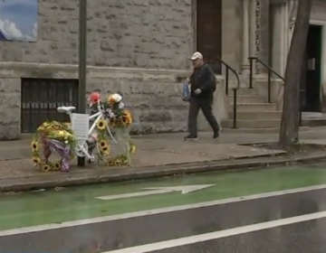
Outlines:
{"label": "yellow sunflower wreath with purple ribbon, left of the pole", "polygon": [[[74,145],[75,137],[70,123],[46,121],[37,128],[32,139],[34,165],[44,172],[59,170],[67,172],[70,169],[70,160],[73,158]],[[42,151],[43,155],[41,155]],[[57,152],[61,159],[54,162],[49,161],[52,151]]]}

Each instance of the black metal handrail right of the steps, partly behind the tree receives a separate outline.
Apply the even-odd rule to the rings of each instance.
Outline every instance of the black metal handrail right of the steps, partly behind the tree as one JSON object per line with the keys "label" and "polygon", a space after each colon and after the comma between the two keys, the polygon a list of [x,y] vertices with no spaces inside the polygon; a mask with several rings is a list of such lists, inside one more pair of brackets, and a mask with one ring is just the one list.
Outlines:
{"label": "black metal handrail right of the steps, partly behind the tree", "polygon": [[[249,57],[249,66],[250,66],[250,72],[249,72],[249,89],[254,88],[254,62],[258,61],[260,64],[262,64],[266,69],[267,69],[267,81],[268,81],[268,103],[272,102],[272,96],[271,96],[271,89],[272,89],[272,73],[277,76],[280,80],[283,80],[283,83],[285,82],[284,78],[277,73],[275,70],[273,70],[270,66],[268,66],[264,61],[261,61],[257,57]],[[299,89],[299,126],[302,126],[302,106],[301,106],[301,101],[302,101],[302,94],[305,92],[304,89]]]}

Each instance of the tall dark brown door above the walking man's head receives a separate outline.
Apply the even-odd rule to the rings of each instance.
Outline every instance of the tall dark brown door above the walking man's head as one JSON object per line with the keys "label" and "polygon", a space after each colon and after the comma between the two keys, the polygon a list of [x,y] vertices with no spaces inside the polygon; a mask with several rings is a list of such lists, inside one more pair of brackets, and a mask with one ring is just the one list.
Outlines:
{"label": "tall dark brown door above the walking man's head", "polygon": [[204,55],[216,73],[221,66],[216,57],[221,56],[222,1],[197,0],[197,51]]}

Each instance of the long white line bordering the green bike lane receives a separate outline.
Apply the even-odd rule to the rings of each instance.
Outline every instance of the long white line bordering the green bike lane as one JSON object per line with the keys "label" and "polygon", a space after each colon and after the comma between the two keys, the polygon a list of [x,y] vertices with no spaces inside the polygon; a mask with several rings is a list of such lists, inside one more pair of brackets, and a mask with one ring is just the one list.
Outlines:
{"label": "long white line bordering the green bike lane", "polygon": [[70,228],[70,227],[75,227],[75,226],[82,226],[82,225],[100,223],[100,222],[111,221],[111,220],[123,220],[123,219],[129,219],[129,218],[136,218],[136,217],[141,217],[141,216],[154,215],[154,214],[172,212],[172,211],[185,211],[185,210],[189,210],[189,209],[215,206],[215,205],[221,205],[221,204],[227,204],[227,203],[233,203],[233,202],[252,201],[252,200],[257,200],[257,199],[270,198],[270,197],[274,197],[274,196],[282,196],[282,195],[298,193],[298,192],[309,192],[309,191],[321,190],[321,189],[325,189],[325,188],[326,188],[326,184],[321,184],[321,185],[302,187],[302,188],[284,190],[284,191],[278,191],[278,192],[265,192],[265,193],[260,193],[260,194],[224,199],[224,200],[219,200],[219,201],[206,201],[206,202],[199,202],[199,203],[194,203],[194,204],[173,206],[173,207],[167,207],[167,208],[159,208],[159,209],[154,209],[154,210],[135,211],[135,212],[128,212],[128,213],[117,214],[117,215],[102,216],[102,217],[98,217],[98,218],[91,218],[91,219],[84,219],[84,220],[65,221],[60,224],[50,223],[50,224],[45,224],[45,225],[25,227],[25,228],[13,229],[13,230],[0,230],[0,237],[18,235],[18,234],[24,234],[24,233],[30,233],[30,232],[38,232],[38,231],[44,231],[44,230],[58,230],[58,229],[62,229],[62,228]]}

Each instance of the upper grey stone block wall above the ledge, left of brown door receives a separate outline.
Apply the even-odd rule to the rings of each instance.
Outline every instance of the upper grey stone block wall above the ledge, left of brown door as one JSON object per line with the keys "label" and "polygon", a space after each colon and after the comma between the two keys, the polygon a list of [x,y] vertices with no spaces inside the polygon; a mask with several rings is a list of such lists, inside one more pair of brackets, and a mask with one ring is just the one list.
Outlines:
{"label": "upper grey stone block wall above the ledge, left of brown door", "polygon": [[[88,65],[189,67],[191,0],[87,2]],[[37,42],[0,42],[0,61],[77,64],[79,1],[39,0],[38,11]]]}

